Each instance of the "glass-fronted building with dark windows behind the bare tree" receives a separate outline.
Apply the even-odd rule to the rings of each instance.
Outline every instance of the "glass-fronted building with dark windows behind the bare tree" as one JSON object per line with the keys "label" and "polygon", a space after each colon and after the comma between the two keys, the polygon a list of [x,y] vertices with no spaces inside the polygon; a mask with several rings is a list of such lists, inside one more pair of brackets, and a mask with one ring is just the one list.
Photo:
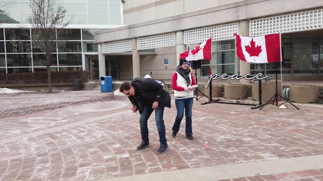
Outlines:
{"label": "glass-fronted building with dark windows behind the bare tree", "polygon": [[[31,36],[22,37],[20,28],[30,32],[28,0],[0,1],[0,73],[45,71],[44,51],[33,47]],[[92,70],[98,78],[98,45],[94,32],[117,28],[123,24],[120,0],[56,0],[66,10],[65,31],[57,34],[52,50],[52,71]],[[106,57],[106,74],[114,74],[116,60]],[[118,71],[118,70],[117,70]]]}

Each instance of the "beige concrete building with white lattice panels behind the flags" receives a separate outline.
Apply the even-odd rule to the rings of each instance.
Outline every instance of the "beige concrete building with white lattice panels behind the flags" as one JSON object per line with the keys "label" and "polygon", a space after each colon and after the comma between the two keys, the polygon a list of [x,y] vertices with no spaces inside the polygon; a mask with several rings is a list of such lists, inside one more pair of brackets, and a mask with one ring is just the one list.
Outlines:
{"label": "beige concrete building with white lattice panels behind the flags", "polygon": [[[274,64],[242,62],[234,33],[282,33],[285,79],[322,79],[323,1],[315,0],[147,0],[124,1],[128,26],[95,32],[99,69],[115,57],[118,78],[150,74],[171,79],[179,54],[212,36],[212,59],[202,60],[199,77],[213,73],[275,73]],[[292,5],[292,6],[291,6]],[[101,66],[102,65],[102,66]]]}

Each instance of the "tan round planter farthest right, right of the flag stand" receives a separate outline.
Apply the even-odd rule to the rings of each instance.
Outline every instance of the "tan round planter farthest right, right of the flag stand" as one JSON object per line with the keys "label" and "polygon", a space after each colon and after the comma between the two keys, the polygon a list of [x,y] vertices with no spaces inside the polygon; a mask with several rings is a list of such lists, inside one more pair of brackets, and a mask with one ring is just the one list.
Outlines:
{"label": "tan round planter farthest right, right of the flag stand", "polygon": [[314,103],[318,94],[318,86],[315,85],[290,85],[289,100],[294,103]]}

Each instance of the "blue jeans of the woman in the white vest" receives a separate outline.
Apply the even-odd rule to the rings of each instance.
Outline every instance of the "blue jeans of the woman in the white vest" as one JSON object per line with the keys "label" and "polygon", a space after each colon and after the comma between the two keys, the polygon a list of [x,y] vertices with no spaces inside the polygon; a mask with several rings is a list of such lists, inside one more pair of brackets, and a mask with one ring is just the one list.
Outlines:
{"label": "blue jeans of the woman in the white vest", "polygon": [[184,117],[184,108],[185,108],[185,117],[186,117],[186,127],[185,134],[193,134],[192,132],[192,106],[193,98],[186,99],[175,99],[175,105],[177,109],[177,116],[173,126],[173,132],[177,133],[180,130],[181,122]]}

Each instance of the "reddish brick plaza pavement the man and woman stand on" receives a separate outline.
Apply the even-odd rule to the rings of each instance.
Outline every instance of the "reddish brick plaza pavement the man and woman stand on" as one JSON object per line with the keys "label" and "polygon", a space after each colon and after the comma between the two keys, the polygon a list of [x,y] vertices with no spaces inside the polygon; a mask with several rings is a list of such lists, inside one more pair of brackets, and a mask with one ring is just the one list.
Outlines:
{"label": "reddish brick plaza pavement the man and woman stand on", "polygon": [[[96,91],[0,95],[0,99],[0,141],[131,106],[125,97]],[[171,146],[167,154],[156,154],[159,141],[153,115],[148,121],[150,148],[134,149],[140,143],[139,114],[129,109],[109,119],[0,144],[0,180],[94,180],[323,153],[322,107],[266,106],[259,111],[201,102],[193,105],[194,140],[186,139],[184,120],[177,137],[171,136],[176,109],[174,105],[165,109]],[[203,149],[205,139],[210,150]]]}

